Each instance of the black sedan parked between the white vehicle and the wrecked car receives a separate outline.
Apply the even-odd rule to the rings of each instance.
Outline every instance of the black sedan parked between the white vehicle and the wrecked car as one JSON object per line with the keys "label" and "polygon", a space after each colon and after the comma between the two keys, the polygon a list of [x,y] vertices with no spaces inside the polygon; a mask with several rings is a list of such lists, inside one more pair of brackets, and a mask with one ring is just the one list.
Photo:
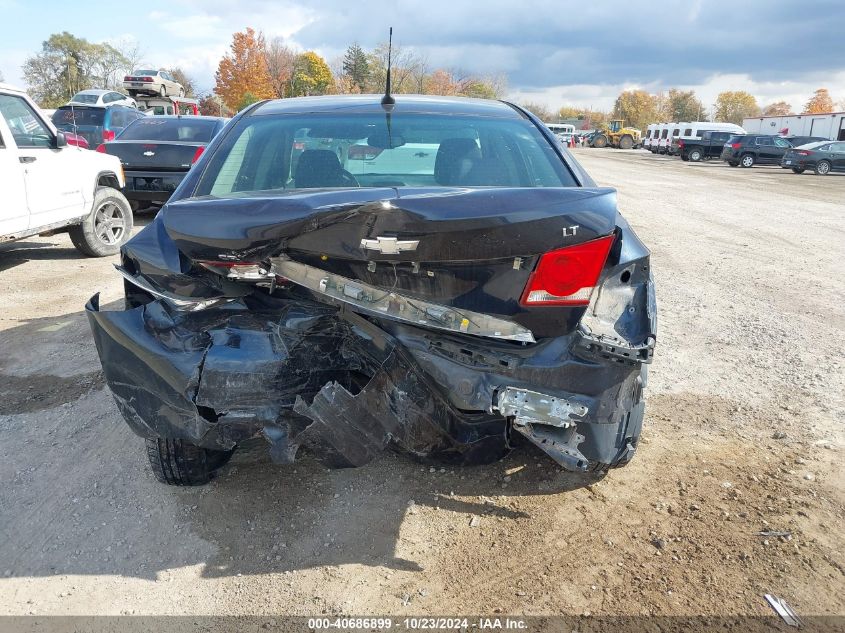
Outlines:
{"label": "black sedan parked between the white vehicle and the wrecked car", "polygon": [[97,151],[120,159],[123,193],[137,209],[142,202],[166,202],[225,124],[220,117],[142,116]]}

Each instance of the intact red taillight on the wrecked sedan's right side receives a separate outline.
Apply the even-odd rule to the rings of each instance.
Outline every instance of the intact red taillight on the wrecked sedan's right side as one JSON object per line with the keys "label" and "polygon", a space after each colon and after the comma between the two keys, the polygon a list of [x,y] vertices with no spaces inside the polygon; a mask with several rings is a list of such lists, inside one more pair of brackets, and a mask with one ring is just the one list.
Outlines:
{"label": "intact red taillight on the wrecked sedan's right side", "polygon": [[613,235],[567,246],[540,257],[528,278],[520,304],[524,306],[585,306],[601,275]]}

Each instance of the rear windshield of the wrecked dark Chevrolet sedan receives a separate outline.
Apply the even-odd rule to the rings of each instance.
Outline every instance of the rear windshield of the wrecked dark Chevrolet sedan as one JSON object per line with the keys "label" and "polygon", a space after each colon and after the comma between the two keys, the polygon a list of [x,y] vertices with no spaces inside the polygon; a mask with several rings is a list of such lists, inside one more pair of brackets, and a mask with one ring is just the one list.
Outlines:
{"label": "rear windshield of the wrecked dark Chevrolet sedan", "polygon": [[571,187],[530,121],[437,114],[241,119],[197,195],[328,187]]}

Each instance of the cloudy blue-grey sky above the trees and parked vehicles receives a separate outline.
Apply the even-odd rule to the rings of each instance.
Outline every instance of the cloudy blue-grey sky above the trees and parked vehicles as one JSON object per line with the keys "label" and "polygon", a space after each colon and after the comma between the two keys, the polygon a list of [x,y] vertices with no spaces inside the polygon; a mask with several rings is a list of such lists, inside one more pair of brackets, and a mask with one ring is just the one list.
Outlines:
{"label": "cloudy blue-grey sky above the trees and parked vehicles", "polygon": [[145,61],[181,66],[210,90],[231,34],[247,26],[331,61],[357,40],[394,41],[432,68],[504,73],[510,98],[610,109],[623,89],[695,89],[705,104],[748,90],[800,108],[827,87],[845,100],[845,0],[0,0],[0,72],[51,33],[136,39]]}

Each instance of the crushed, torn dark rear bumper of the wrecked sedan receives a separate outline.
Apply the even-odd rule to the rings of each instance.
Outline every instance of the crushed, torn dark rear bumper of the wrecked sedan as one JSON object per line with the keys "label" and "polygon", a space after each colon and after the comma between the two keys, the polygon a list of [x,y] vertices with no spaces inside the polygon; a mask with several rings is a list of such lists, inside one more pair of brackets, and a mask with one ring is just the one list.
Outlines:
{"label": "crushed, torn dark rear bumper of the wrecked sedan", "polygon": [[[494,345],[303,301],[180,312],[156,300],[100,311],[95,296],[86,309],[135,433],[213,449],[263,436],[280,462],[307,446],[329,464],[360,466],[392,443],[484,463],[505,454],[517,431],[571,470],[625,463],[653,349],[653,338],[631,353],[584,331]],[[499,400],[507,388],[552,401],[552,412],[514,416]]]}

